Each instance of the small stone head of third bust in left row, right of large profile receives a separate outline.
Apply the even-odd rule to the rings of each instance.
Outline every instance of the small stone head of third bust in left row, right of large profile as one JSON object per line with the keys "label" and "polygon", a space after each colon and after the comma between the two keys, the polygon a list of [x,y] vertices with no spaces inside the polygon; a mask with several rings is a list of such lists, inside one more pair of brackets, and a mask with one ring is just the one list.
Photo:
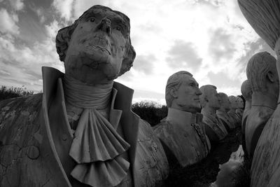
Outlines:
{"label": "small stone head of third bust in left row, right of large profile", "polygon": [[218,96],[215,85],[202,85],[200,90],[202,91],[202,95],[200,95],[200,103],[202,104],[202,108],[207,106],[215,110],[220,109],[221,99]]}

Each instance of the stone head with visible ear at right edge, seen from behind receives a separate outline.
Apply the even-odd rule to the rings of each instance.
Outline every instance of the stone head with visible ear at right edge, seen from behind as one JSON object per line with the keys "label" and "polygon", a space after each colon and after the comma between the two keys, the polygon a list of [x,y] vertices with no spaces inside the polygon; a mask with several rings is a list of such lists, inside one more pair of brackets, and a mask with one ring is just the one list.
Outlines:
{"label": "stone head with visible ear at right edge, seen from behind", "polygon": [[248,61],[246,74],[253,92],[279,95],[279,78],[276,69],[276,59],[267,52],[253,55]]}

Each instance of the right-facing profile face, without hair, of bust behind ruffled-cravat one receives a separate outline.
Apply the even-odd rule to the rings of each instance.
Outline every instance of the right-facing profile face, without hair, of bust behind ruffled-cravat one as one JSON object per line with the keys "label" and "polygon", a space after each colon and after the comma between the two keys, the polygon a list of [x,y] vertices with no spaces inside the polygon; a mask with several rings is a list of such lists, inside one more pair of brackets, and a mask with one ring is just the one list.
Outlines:
{"label": "right-facing profile face, without hair, of bust behind ruffled-cravat one", "polygon": [[197,81],[186,75],[178,90],[174,91],[174,100],[171,108],[196,113],[200,111],[200,95],[202,92]]}

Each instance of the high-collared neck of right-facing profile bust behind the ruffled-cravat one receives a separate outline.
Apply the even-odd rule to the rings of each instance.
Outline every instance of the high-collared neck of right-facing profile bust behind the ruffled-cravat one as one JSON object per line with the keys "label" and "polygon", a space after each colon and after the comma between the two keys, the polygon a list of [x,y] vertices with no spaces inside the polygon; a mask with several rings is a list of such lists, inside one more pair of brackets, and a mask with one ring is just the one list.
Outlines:
{"label": "high-collared neck of right-facing profile bust behind the ruffled-cravat one", "polygon": [[172,121],[172,123],[180,125],[181,127],[186,127],[190,126],[192,123],[196,123],[196,114],[168,108],[167,120]]}

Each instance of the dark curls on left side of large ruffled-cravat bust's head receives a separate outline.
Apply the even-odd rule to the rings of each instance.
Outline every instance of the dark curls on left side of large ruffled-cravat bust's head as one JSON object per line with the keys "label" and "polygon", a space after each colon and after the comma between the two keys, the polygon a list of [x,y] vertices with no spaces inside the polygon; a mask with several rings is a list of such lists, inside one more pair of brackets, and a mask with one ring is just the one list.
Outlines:
{"label": "dark curls on left side of large ruffled-cravat bust's head", "polygon": [[64,59],[66,57],[66,52],[68,49],[69,41],[71,39],[71,26],[64,27],[60,29],[57,33],[57,37],[55,39],[56,47],[57,47],[57,53],[59,55],[59,60],[64,62]]}

